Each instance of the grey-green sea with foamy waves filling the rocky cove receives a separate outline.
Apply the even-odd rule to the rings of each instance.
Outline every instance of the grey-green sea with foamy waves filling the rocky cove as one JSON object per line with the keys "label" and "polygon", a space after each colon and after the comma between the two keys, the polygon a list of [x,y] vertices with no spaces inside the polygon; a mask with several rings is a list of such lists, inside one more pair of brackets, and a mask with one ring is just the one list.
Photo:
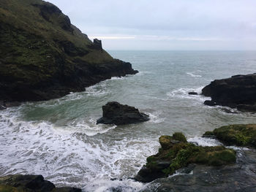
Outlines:
{"label": "grey-green sea with foamy waves filling the rocky cove", "polygon": [[[200,93],[215,79],[256,72],[256,52],[110,54],[129,61],[139,73],[113,77],[61,99],[0,111],[0,176],[42,174],[57,186],[83,191],[143,191],[148,184],[129,177],[137,174],[148,155],[157,153],[162,134],[182,131],[191,142],[218,145],[200,136],[219,126],[255,123],[254,114],[208,107],[203,104],[208,98],[188,92]],[[96,125],[108,101],[137,107],[151,120],[129,126]]]}

